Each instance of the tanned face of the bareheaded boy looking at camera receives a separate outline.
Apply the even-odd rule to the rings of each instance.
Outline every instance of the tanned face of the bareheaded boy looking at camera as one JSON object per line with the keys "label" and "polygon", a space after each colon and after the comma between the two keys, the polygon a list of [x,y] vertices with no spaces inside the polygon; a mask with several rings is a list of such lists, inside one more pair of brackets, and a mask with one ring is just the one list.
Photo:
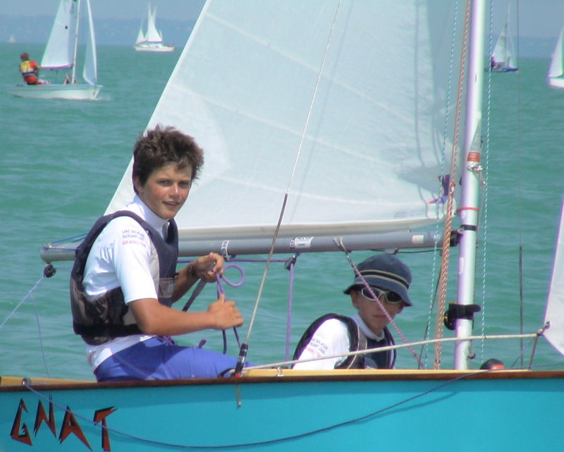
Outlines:
{"label": "tanned face of the bareheaded boy looking at camera", "polygon": [[137,195],[162,219],[171,219],[184,205],[192,185],[192,166],[179,169],[176,163],[154,170],[145,185],[135,178]]}

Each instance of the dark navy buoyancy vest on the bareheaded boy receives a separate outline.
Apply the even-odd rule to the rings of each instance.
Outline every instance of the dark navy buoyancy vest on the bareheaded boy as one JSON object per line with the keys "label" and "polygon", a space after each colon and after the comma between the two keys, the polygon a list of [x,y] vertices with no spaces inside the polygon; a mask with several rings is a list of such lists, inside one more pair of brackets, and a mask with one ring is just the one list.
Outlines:
{"label": "dark navy buoyancy vest on the bareheaded boy", "polygon": [[166,240],[152,226],[133,212],[121,210],[98,219],[76,252],[75,263],[71,271],[71,310],[73,329],[90,345],[100,345],[119,336],[140,334],[137,324],[125,324],[123,316],[128,312],[121,287],[107,291],[95,300],[90,300],[85,293],[82,280],[86,259],[94,240],[106,225],[118,216],[130,216],[145,229],[159,256],[159,303],[172,305],[174,283],[176,281],[176,262],[178,259],[178,228],[171,219]]}

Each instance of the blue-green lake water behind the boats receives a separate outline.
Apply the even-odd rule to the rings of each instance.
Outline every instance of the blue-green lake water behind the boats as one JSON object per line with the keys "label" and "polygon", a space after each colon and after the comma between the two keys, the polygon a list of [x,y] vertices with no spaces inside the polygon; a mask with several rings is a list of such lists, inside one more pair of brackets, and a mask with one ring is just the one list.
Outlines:
{"label": "blue-green lake water behind the boats", "polygon": [[[0,44],[1,85],[19,82],[21,51],[39,59],[42,46]],[[130,47],[99,47],[99,83],[104,90],[97,102],[18,99],[1,90],[0,374],[92,378],[83,343],[71,327],[71,262],[56,264],[56,275],[34,289],[44,267],[39,250],[43,243],[86,232],[104,212],[128,164],[133,142],[149,121],[179,54],[178,50],[140,54]],[[486,279],[485,286],[477,282],[476,291],[481,305],[484,293],[486,326],[477,317],[477,334],[520,331],[520,247],[523,330],[534,332],[542,324],[564,193],[564,90],[546,85],[547,68],[545,59],[525,59],[520,61],[519,73],[491,77],[489,209],[482,216],[482,231],[487,226]],[[357,252],[352,257],[360,262],[366,255]],[[453,250],[450,279],[456,273],[456,256]],[[423,338],[429,318],[434,331],[429,294],[434,288],[431,276],[436,277],[437,271],[430,253],[405,253],[401,258],[412,268],[415,305],[396,321],[407,339],[417,341]],[[478,276],[482,261],[480,250]],[[247,319],[239,329],[243,340],[263,268],[264,264],[245,265],[245,286],[226,287],[228,298],[238,303]],[[352,276],[343,255],[302,255],[296,270],[290,354],[312,319],[326,312],[352,312],[342,294]],[[227,276],[238,279],[234,271]],[[272,265],[250,335],[252,362],[285,358],[288,277],[281,264]],[[455,290],[449,289],[448,301],[454,297]],[[208,287],[192,309],[205,309],[212,298],[214,288]],[[446,330],[445,336],[453,336],[452,331]],[[228,331],[227,337],[229,353],[237,354],[233,332]],[[195,344],[202,338],[207,338],[207,348],[222,349],[219,332],[187,335],[180,342]],[[527,362],[529,341],[525,346]],[[452,350],[451,344],[443,347],[443,368],[451,367]],[[491,357],[510,365],[519,355],[519,343],[493,341],[483,348],[475,343],[474,352],[474,368]],[[432,353],[431,348],[428,366],[432,366]],[[541,339],[537,364],[561,361]],[[416,365],[407,350],[400,351],[398,367]]]}

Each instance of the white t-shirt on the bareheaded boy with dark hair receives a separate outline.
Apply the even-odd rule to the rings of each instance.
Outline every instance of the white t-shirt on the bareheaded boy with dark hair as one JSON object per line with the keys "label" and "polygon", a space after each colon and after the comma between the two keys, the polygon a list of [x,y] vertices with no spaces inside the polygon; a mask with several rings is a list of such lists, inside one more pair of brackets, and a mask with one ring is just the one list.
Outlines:
{"label": "white t-shirt on the bareheaded boy with dark hair", "polygon": [[[154,214],[137,195],[125,207],[140,216],[157,231],[168,221]],[[149,235],[130,216],[118,216],[106,225],[94,240],[86,261],[83,286],[92,299],[116,287],[121,287],[125,303],[141,298],[157,298],[159,284],[159,256]],[[127,312],[125,324],[135,323]],[[154,336],[135,334],[115,338],[99,346],[87,345],[87,360],[96,369],[102,361],[124,348]]]}

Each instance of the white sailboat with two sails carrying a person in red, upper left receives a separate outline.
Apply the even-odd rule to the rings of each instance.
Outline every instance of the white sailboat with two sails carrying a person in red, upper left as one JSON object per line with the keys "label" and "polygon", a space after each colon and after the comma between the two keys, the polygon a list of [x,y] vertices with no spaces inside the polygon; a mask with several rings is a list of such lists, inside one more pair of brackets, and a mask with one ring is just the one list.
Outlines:
{"label": "white sailboat with two sails carrying a person in red, upper left", "polygon": [[[82,78],[78,82],[77,58],[80,25],[80,10],[85,1],[86,49]],[[42,85],[13,85],[8,92],[17,97],[40,99],[96,99],[102,85],[98,85],[97,51],[94,23],[90,0],[61,0],[53,28],[45,47],[41,66],[41,78],[49,83]],[[45,77],[47,71],[54,71],[54,79]],[[70,71],[70,72],[69,72]]]}

